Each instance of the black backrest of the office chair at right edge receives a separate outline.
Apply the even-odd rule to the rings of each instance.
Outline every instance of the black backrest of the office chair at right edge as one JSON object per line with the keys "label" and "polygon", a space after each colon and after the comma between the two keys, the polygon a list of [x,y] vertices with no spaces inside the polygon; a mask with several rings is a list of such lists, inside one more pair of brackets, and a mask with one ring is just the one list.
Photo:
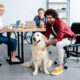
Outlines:
{"label": "black backrest of the office chair at right edge", "polygon": [[[71,30],[75,34],[80,34],[80,23],[73,23],[72,26],[71,26]],[[80,36],[77,37],[76,43],[80,43]]]}

